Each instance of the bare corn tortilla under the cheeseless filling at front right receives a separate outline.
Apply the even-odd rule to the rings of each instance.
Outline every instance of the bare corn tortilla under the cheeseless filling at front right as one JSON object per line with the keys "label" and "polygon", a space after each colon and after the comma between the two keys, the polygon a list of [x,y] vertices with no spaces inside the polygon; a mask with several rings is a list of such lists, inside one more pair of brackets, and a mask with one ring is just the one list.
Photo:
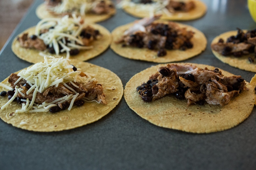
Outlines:
{"label": "bare corn tortilla under the cheeseless filling at front right", "polygon": [[[204,64],[189,64],[200,68],[214,69],[214,67]],[[244,90],[239,96],[233,97],[224,107],[209,104],[187,106],[186,100],[176,99],[173,95],[166,95],[150,103],[144,102],[139,97],[139,93],[136,92],[136,87],[146,82],[149,76],[155,74],[160,66],[163,64],[152,66],[136,74],[127,82],[124,89],[124,98],[128,106],[140,117],[154,125],[192,133],[217,132],[243,122],[254,107],[254,89],[247,82],[248,91]],[[233,75],[221,71],[224,76]]]}

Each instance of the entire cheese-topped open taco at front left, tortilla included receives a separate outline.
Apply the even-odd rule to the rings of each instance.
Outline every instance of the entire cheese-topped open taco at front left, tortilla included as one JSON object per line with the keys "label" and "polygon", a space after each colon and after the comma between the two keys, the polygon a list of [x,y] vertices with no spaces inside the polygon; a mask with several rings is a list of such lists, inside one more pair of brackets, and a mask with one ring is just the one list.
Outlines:
{"label": "entire cheese-topped open taco at front left, tortilla included", "polygon": [[0,83],[0,92],[5,122],[33,131],[58,131],[100,119],[118,104],[123,88],[107,69],[50,56],[12,73]]}

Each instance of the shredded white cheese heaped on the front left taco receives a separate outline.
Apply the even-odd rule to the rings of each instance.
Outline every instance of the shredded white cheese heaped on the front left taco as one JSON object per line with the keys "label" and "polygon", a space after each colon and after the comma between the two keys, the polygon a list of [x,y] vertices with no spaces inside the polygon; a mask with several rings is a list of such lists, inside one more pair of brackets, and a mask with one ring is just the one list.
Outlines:
{"label": "shredded white cheese heaped on the front left taco", "polygon": [[[16,110],[16,112],[26,112],[26,111],[47,112],[51,107],[57,106],[57,104],[64,103],[65,101],[68,101],[68,100],[72,100],[68,108],[68,110],[71,110],[71,108],[73,107],[74,101],[76,97],[79,95],[79,93],[77,93],[74,89],[69,87],[66,83],[70,82],[72,85],[79,88],[77,85],[75,85],[74,82],[82,83],[83,85],[85,85],[89,81],[95,81],[96,78],[92,78],[88,74],[86,74],[88,76],[83,76],[83,77],[79,76],[81,71],[78,71],[78,70],[74,71],[73,70],[74,66],[70,65],[68,61],[70,60],[63,59],[63,58],[55,59],[52,56],[50,57],[45,56],[44,62],[36,63],[32,67],[28,67],[27,69],[19,72],[18,76],[20,76],[20,78],[14,83],[14,85],[17,84],[23,78],[31,86],[31,88],[27,91],[27,94],[31,93],[32,90],[34,90],[34,92],[33,92],[33,97],[31,101],[28,98],[26,100],[21,99],[21,101],[26,103],[23,103],[21,110]],[[51,103],[46,103],[46,102],[43,102],[42,104],[34,103],[37,92],[43,93],[47,88],[51,86],[58,87],[59,83],[62,83],[64,86],[66,86],[68,89],[73,91],[75,94],[74,95],[70,94],[68,96],[66,95],[64,97],[54,100]],[[4,85],[2,83],[0,84],[0,86],[7,88],[8,90],[12,89],[11,87]],[[14,95],[5,105],[1,107],[1,109],[4,109],[9,104],[11,104],[11,102],[16,98],[18,93],[24,96],[24,94],[22,93],[22,90],[23,89],[16,86]],[[83,100],[86,102],[96,101],[96,100],[88,101],[86,97],[84,97]],[[100,103],[101,100],[96,102]]]}

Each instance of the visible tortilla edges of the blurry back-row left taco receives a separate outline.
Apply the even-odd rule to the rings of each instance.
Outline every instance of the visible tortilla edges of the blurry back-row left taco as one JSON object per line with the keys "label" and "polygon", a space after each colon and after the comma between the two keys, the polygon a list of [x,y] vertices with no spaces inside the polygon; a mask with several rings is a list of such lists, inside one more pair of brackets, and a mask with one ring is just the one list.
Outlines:
{"label": "visible tortilla edges of the blurry back-row left taco", "polygon": [[[84,19],[86,20],[86,22],[88,23],[96,23],[96,22],[100,22],[100,21],[104,21],[107,20],[108,18],[110,18],[111,16],[115,15],[116,13],[116,9],[112,9],[110,11],[110,13],[108,14],[86,14]],[[35,10],[35,14],[39,19],[44,19],[44,18],[61,18],[64,15],[56,15],[53,14],[51,12],[49,12],[47,10],[46,5],[43,3],[41,5],[39,5],[36,10]]]}

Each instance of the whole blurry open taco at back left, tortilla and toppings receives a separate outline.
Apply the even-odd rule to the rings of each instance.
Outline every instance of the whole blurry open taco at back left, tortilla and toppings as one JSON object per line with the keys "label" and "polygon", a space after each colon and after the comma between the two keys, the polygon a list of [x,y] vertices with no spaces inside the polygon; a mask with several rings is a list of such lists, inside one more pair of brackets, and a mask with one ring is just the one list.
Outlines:
{"label": "whole blurry open taco at back left, tortilla and toppings", "polygon": [[75,14],[89,22],[104,21],[115,13],[111,0],[45,0],[36,9],[36,15],[40,19]]}

